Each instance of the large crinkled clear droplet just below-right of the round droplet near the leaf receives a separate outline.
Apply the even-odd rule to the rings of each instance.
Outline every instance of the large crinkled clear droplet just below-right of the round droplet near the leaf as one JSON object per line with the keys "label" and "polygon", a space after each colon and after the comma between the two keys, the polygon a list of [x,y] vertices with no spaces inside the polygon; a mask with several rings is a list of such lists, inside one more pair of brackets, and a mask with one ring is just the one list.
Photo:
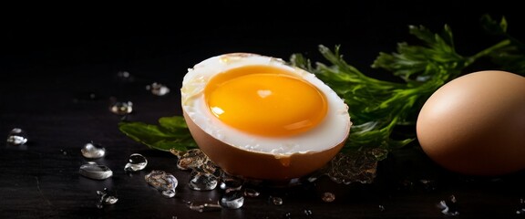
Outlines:
{"label": "large crinkled clear droplet just below-right of the round droplet near the leaf", "polygon": [[144,179],[149,185],[159,190],[162,195],[167,198],[175,196],[175,189],[177,185],[179,185],[179,181],[173,174],[159,170],[149,172],[144,176]]}

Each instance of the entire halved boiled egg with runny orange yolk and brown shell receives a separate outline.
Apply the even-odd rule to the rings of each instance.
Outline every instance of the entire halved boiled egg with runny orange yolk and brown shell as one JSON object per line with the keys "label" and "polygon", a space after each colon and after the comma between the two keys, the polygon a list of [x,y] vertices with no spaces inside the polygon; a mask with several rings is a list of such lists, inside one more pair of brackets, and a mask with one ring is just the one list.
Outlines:
{"label": "entire halved boiled egg with runny orange yolk and brown shell", "polygon": [[181,106],[201,151],[224,172],[289,181],[323,167],[348,138],[348,106],[313,73],[252,53],[188,70]]}

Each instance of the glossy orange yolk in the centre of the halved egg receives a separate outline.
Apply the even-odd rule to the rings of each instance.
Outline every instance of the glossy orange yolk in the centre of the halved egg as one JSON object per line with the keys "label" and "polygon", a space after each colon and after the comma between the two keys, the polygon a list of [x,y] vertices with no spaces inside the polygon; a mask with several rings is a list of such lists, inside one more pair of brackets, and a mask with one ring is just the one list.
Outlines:
{"label": "glossy orange yolk in the centre of the halved egg", "polygon": [[252,134],[276,137],[314,128],[328,109],[324,94],[282,68],[247,66],[211,78],[204,89],[211,113]]}

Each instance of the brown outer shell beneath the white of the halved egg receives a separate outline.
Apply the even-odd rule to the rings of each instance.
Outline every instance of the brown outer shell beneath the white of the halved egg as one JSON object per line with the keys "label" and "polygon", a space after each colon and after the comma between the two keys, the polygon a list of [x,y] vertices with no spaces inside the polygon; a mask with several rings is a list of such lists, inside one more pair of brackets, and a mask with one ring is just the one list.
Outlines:
{"label": "brown outer shell beneath the white of the halved egg", "polygon": [[[246,151],[213,138],[201,130],[187,115],[183,116],[191,135],[212,162],[224,172],[245,179],[283,183],[303,177],[322,168],[332,160],[345,145],[345,141],[325,151],[294,153],[290,156],[275,156],[270,153]],[[349,132],[350,127],[348,127]]]}

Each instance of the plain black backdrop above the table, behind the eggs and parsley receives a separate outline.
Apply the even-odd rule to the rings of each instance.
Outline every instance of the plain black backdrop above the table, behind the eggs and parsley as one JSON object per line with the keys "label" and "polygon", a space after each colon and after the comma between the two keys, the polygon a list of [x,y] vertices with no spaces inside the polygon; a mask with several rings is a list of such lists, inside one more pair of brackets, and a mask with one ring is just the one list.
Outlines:
{"label": "plain black backdrop above the table, behind the eggs and parsley", "polygon": [[[479,18],[506,16],[523,36],[520,7],[508,1],[192,1],[186,5],[56,5],[5,7],[2,68],[115,70],[152,64],[172,75],[221,53],[248,51],[316,57],[317,46],[342,45],[347,60],[367,72],[379,51],[410,41],[408,26],[440,32],[451,26],[458,52],[487,47]],[[63,8],[62,8],[63,7]],[[154,64],[152,62],[155,62]]]}

